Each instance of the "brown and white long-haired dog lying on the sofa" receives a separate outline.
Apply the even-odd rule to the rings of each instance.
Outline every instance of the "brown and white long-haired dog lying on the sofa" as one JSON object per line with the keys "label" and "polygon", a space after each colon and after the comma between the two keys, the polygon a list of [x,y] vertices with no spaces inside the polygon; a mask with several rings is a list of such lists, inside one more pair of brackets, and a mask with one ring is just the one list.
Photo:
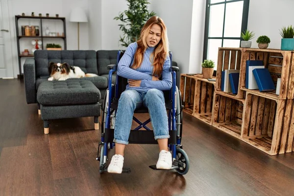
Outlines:
{"label": "brown and white long-haired dog lying on the sofa", "polygon": [[50,77],[48,80],[66,80],[69,78],[79,77],[95,77],[98,76],[94,73],[84,73],[81,68],[76,66],[69,66],[67,63],[53,63],[49,65]]}

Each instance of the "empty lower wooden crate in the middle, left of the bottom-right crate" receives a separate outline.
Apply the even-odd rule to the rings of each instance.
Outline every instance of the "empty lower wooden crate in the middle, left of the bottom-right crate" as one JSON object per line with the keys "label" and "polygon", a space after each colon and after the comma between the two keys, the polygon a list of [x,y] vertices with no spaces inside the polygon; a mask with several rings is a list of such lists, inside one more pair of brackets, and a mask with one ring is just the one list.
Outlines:
{"label": "empty lower wooden crate in the middle, left of the bottom-right crate", "polygon": [[229,98],[216,92],[212,125],[241,139],[244,102],[245,99]]}

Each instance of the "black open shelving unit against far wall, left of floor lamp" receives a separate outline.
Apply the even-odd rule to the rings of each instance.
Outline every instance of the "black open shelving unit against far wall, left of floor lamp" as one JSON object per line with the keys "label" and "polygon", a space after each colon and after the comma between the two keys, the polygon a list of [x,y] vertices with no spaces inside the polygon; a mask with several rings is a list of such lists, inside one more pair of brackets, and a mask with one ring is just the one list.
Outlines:
{"label": "black open shelving unit against far wall, left of floor lamp", "polygon": [[[19,29],[19,19],[34,19],[34,20],[40,20],[40,35],[39,36],[25,36],[25,35],[20,35],[20,29]],[[63,22],[63,33],[64,36],[44,36],[43,35],[43,21],[44,20],[61,20]],[[60,38],[64,40],[64,49],[67,49],[67,44],[66,44],[66,22],[64,17],[45,17],[45,16],[21,16],[21,15],[16,15],[15,16],[15,24],[16,24],[16,36],[17,36],[17,48],[18,48],[18,61],[19,61],[19,72],[20,74],[18,75],[19,78],[23,77],[22,73],[22,65],[21,65],[21,58],[22,57],[33,57],[33,54],[30,55],[23,55],[20,51],[20,41],[22,38],[39,38],[42,41],[42,45],[40,46],[42,49],[44,49],[44,41],[43,39],[51,39],[51,38]]]}

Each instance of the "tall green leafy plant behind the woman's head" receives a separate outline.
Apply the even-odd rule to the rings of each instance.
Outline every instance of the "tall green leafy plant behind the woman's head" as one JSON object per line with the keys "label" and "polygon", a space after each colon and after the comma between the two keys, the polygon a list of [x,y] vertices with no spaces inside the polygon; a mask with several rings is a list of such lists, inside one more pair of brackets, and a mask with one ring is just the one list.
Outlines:
{"label": "tall green leafy plant behind the woman's head", "polygon": [[123,47],[127,47],[130,43],[136,42],[140,37],[140,32],[146,21],[155,16],[155,13],[149,12],[147,4],[148,0],[126,0],[128,10],[120,12],[119,16],[114,20],[123,22],[120,24],[120,30],[123,31],[123,37],[120,36],[120,42]]}

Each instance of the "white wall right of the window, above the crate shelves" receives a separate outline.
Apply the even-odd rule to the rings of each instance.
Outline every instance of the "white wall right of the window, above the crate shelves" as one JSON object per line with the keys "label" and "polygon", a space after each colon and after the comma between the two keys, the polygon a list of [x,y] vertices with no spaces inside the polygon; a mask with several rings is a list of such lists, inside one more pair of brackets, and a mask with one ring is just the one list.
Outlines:
{"label": "white wall right of the window, above the crate shelves", "polygon": [[294,0],[250,0],[248,29],[255,32],[252,48],[261,35],[270,38],[270,49],[281,49],[279,29],[294,25]]}

